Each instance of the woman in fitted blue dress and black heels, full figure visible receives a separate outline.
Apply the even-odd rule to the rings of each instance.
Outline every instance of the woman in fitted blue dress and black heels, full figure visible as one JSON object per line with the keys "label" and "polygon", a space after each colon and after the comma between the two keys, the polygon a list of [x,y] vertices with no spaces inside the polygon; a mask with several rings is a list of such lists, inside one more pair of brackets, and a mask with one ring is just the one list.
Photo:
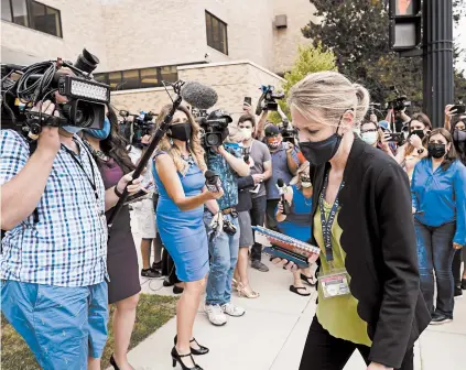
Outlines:
{"label": "woman in fitted blue dress and black heels, full figure visible", "polygon": [[[159,115],[156,126],[169,113],[171,105]],[[194,318],[208,272],[207,235],[203,222],[204,204],[218,213],[215,199],[223,191],[208,192],[205,187],[204,150],[199,127],[185,107],[173,116],[172,124],[159,143],[154,156],[153,174],[159,188],[156,222],[163,244],[172,255],[176,274],[185,283],[176,307],[175,347],[172,349],[173,367],[202,370],[192,355],[205,355],[206,347],[193,337]]]}

